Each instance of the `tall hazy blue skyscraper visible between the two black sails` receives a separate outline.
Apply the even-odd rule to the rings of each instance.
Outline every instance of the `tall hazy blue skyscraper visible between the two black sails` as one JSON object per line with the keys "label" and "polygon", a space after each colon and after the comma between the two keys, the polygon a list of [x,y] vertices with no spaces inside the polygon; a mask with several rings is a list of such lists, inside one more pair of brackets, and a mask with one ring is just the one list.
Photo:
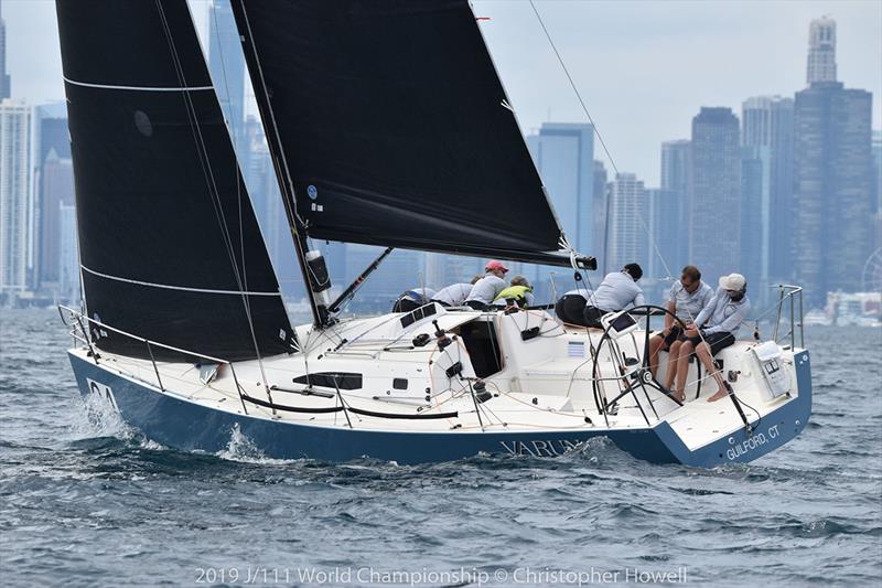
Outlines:
{"label": "tall hazy blue skyscraper visible between the two black sails", "polygon": [[[245,56],[229,0],[208,11],[208,66],[239,159],[248,157],[245,131]],[[243,165],[247,168],[247,164]]]}

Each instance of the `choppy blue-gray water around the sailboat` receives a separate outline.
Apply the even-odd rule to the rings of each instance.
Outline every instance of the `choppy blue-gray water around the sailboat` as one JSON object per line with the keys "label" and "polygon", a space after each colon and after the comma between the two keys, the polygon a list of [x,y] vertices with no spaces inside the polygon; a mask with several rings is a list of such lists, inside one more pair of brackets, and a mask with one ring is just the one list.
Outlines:
{"label": "choppy blue-gray water around the sailboat", "polygon": [[879,330],[807,333],[811,423],[747,466],[654,466],[601,440],[400,467],[270,460],[238,437],[219,455],[161,447],[79,398],[57,314],[0,318],[4,586],[882,577]]}

